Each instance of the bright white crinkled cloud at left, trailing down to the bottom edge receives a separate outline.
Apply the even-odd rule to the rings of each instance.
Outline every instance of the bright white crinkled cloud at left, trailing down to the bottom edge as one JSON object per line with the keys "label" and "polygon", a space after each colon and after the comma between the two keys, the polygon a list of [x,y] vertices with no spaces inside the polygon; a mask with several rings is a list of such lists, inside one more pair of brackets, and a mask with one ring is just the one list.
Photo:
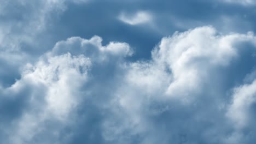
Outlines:
{"label": "bright white crinkled cloud at left, trailing down to the bottom edge", "polygon": [[87,80],[90,65],[88,58],[71,56],[70,53],[46,61],[40,59],[34,66],[28,65],[21,80],[7,89],[8,93],[19,93],[28,87],[33,89],[26,94],[31,109],[14,124],[11,141],[24,143],[33,140],[34,136],[45,131],[43,125],[49,120],[65,125],[69,113],[78,105],[79,89]]}

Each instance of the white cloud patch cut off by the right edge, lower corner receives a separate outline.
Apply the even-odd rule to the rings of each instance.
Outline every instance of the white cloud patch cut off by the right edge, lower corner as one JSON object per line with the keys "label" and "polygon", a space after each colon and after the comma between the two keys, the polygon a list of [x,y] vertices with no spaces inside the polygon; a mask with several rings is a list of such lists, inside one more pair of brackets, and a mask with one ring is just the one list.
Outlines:
{"label": "white cloud patch cut off by the right edge, lower corner", "polygon": [[[231,104],[227,107],[226,117],[234,125],[235,131],[226,138],[226,143],[253,143],[255,133],[255,77],[252,83],[235,87]],[[249,134],[245,133],[249,131]]]}

